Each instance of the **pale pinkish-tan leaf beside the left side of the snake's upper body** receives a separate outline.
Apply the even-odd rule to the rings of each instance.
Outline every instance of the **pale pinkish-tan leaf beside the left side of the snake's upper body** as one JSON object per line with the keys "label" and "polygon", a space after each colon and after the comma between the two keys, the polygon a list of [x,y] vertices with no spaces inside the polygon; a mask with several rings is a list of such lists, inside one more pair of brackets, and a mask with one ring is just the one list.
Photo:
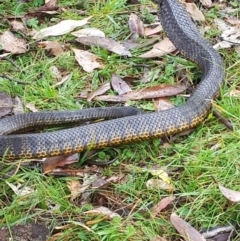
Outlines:
{"label": "pale pinkish-tan leaf beside the left side of the snake's upper body", "polygon": [[166,54],[172,53],[176,50],[176,47],[170,41],[169,38],[164,38],[161,42],[153,45],[153,48],[146,53],[141,54],[140,58],[155,58],[161,57]]}

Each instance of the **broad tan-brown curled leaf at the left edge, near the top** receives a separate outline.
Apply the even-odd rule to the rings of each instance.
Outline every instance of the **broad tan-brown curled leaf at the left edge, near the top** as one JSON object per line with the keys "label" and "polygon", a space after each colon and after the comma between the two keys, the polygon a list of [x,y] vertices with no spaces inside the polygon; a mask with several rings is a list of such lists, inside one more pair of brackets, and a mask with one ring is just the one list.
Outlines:
{"label": "broad tan-brown curled leaf at the left edge, near the top", "polygon": [[24,39],[15,37],[10,31],[5,31],[0,35],[0,45],[2,49],[12,54],[22,54],[27,52],[27,42]]}

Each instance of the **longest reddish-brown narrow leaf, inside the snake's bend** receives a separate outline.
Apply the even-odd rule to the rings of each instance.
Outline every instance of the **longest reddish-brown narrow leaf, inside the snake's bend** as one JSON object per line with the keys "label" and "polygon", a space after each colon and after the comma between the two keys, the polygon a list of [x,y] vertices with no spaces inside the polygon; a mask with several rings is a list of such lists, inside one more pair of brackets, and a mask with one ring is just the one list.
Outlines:
{"label": "longest reddish-brown narrow leaf, inside the snake's bend", "polygon": [[186,89],[187,87],[182,85],[158,85],[154,87],[147,87],[142,90],[134,90],[119,96],[97,96],[95,99],[110,102],[126,102],[127,100],[154,99],[159,97],[177,95],[185,91]]}

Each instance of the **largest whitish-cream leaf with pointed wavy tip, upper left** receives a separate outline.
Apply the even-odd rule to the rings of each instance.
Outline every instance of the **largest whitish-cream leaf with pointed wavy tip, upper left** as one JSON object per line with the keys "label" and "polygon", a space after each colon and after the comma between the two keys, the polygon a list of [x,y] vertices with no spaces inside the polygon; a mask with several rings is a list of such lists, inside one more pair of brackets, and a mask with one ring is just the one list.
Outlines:
{"label": "largest whitish-cream leaf with pointed wavy tip, upper left", "polygon": [[88,20],[91,18],[92,17],[87,17],[82,20],[63,20],[56,25],[41,29],[33,36],[33,39],[41,39],[47,36],[59,36],[69,33],[76,27],[80,27],[87,24]]}

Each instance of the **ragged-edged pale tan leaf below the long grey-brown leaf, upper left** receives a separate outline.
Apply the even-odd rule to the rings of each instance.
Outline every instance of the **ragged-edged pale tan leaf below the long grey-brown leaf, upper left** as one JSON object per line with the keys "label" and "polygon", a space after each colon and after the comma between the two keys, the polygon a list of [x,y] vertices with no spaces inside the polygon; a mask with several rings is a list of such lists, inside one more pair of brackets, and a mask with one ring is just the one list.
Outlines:
{"label": "ragged-edged pale tan leaf below the long grey-brown leaf, upper left", "polygon": [[72,50],[75,53],[75,59],[77,60],[78,64],[82,66],[82,68],[86,72],[90,73],[94,69],[99,69],[103,67],[102,64],[97,62],[99,58],[95,54],[80,49]]}

